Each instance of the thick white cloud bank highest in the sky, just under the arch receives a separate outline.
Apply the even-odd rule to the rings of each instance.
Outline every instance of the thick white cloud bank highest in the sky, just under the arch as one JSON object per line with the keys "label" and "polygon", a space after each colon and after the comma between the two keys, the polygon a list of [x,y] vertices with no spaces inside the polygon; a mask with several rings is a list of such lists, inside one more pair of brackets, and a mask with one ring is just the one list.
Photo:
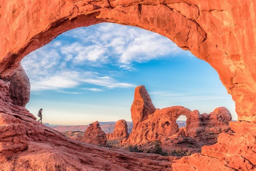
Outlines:
{"label": "thick white cloud bank highest in the sky, just under the arch", "polygon": [[[175,43],[168,38],[147,30],[122,26],[112,23],[101,24],[96,30],[89,28],[79,28],[64,33],[80,39],[83,42],[90,41],[97,47],[104,50],[105,55],[117,59],[121,68],[130,70],[133,62],[147,62],[165,56],[176,56],[183,52]],[[101,55],[103,52],[97,52]],[[92,58],[100,59],[95,53],[96,58],[91,53]],[[190,52],[188,51],[187,56]],[[83,57],[82,57],[83,56]],[[79,59],[87,58],[87,54],[79,56]]]}

